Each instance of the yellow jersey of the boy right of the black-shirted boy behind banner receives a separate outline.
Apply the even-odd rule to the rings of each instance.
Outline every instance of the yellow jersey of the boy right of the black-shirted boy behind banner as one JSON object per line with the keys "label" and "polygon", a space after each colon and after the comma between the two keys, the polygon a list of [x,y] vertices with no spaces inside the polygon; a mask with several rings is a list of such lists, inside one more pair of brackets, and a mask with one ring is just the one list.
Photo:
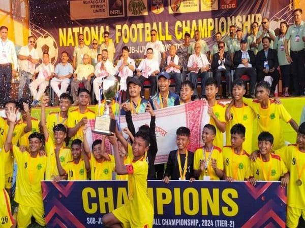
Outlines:
{"label": "yellow jersey of the boy right of the black-shirted boy behind banner", "polygon": [[[208,160],[209,153],[210,153],[209,151],[205,151],[202,147],[196,149],[194,153],[194,170],[200,169],[200,161]],[[210,155],[210,159],[207,165],[207,173],[205,171],[202,171],[199,176],[199,180],[203,180],[204,176],[209,176],[210,180],[220,180],[216,172],[212,168],[211,159],[216,159],[217,168],[220,170],[224,170],[223,155],[221,153],[221,149],[218,146],[213,146],[211,153],[212,154]]]}

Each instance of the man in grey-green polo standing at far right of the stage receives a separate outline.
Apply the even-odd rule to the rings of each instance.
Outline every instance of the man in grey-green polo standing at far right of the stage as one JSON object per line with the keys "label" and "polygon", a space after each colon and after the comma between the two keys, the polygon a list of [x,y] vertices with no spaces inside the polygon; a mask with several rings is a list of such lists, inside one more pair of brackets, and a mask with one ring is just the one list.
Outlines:
{"label": "man in grey-green polo standing at far right of the stage", "polygon": [[[302,21],[302,10],[293,11],[294,24],[289,26],[285,36],[286,59],[291,63],[293,95],[304,95],[305,89],[305,25]],[[290,41],[290,50],[288,49]],[[289,53],[290,52],[290,53]]]}

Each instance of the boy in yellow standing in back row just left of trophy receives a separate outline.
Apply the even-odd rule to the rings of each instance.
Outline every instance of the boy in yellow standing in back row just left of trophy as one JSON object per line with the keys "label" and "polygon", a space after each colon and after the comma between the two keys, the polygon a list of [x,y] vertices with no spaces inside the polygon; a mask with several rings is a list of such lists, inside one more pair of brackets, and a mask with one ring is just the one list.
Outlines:
{"label": "boy in yellow standing in back row just left of trophy", "polygon": [[80,139],[83,141],[82,128],[87,124],[88,120],[96,118],[95,112],[88,109],[87,105],[90,101],[90,92],[84,88],[78,90],[79,107],[69,113],[67,127],[68,137],[71,139]]}

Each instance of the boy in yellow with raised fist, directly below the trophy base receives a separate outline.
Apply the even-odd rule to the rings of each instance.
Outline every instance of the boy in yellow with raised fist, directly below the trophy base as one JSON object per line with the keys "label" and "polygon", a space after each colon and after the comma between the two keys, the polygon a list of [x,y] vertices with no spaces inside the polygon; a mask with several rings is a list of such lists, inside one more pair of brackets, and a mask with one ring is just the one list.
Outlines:
{"label": "boy in yellow with raised fist, directly below the trophy base", "polygon": [[[83,133],[86,134],[87,127]],[[114,171],[114,157],[105,151],[105,137],[97,139],[92,144],[93,155],[90,152],[87,138],[84,137],[84,151],[90,162],[91,180],[111,180]]]}

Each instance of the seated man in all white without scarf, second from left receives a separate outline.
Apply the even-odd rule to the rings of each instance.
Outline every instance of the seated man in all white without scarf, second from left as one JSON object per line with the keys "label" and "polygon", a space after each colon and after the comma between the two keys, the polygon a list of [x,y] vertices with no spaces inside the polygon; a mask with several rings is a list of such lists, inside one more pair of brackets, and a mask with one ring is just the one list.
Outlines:
{"label": "seated man in all white without scarf, second from left", "polygon": [[[73,73],[73,66],[68,62],[68,53],[62,52],[62,55],[60,56],[62,59],[61,63],[58,63],[55,66],[54,70],[54,78],[51,80],[51,87],[58,96],[62,95],[63,93],[66,93],[68,86],[70,84],[70,78],[72,77]],[[60,85],[60,89],[59,86]]]}

